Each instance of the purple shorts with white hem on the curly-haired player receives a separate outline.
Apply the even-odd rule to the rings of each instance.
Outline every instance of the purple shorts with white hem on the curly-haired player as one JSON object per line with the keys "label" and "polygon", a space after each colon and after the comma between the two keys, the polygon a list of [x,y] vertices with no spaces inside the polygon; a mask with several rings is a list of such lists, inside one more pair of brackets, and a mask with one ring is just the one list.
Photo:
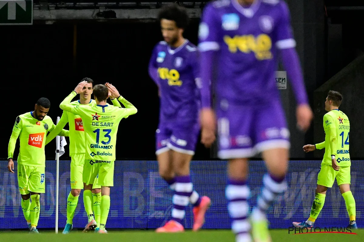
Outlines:
{"label": "purple shorts with white hem on the curly-haired player", "polygon": [[162,121],[155,131],[155,154],[159,155],[171,149],[194,155],[199,132],[200,125],[197,121],[189,124]]}

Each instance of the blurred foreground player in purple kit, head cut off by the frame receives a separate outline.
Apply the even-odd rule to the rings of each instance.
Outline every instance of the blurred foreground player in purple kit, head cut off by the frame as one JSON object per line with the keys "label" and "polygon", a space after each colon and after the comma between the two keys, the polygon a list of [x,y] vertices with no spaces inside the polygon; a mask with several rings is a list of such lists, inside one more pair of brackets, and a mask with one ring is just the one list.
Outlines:
{"label": "blurred foreground player in purple kit, head cut off by the frame", "polygon": [[[229,160],[226,197],[236,241],[251,241],[248,221],[248,158],[262,152],[269,174],[252,212],[255,241],[270,241],[266,210],[282,190],[287,169],[289,130],[274,81],[278,55],[297,100],[297,126],[312,120],[301,67],[281,0],[217,0],[203,9],[199,27],[201,52],[202,143],[209,147],[218,123],[218,156]],[[213,75],[216,74],[216,75]],[[215,110],[211,89],[216,93]]]}

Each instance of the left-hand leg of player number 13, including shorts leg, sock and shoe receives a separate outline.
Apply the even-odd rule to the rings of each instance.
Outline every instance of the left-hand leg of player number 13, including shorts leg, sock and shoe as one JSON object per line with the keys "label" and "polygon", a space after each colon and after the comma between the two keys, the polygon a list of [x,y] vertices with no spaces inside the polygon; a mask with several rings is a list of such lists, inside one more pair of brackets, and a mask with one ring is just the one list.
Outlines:
{"label": "left-hand leg of player number 13, including shorts leg, sock and shoe", "polygon": [[88,223],[83,230],[84,232],[94,230],[97,226],[92,209],[92,205],[94,203],[92,198],[92,183],[94,183],[95,178],[97,177],[99,167],[99,161],[94,160],[85,160],[83,165],[83,205],[88,217]]}

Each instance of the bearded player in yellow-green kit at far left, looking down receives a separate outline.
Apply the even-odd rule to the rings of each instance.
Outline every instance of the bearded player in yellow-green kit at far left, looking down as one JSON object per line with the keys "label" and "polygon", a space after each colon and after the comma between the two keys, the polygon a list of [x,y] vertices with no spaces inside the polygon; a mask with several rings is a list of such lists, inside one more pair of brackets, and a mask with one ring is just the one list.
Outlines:
{"label": "bearded player in yellow-green kit at far left, looking down", "polygon": [[[39,233],[36,228],[40,213],[39,196],[45,193],[46,188],[44,146],[48,132],[55,128],[52,119],[47,116],[50,107],[47,98],[39,98],[34,111],[17,116],[8,145],[8,170],[14,173],[14,149],[20,137],[17,176],[21,208],[30,233]],[[59,135],[68,136],[68,130],[60,130]]]}

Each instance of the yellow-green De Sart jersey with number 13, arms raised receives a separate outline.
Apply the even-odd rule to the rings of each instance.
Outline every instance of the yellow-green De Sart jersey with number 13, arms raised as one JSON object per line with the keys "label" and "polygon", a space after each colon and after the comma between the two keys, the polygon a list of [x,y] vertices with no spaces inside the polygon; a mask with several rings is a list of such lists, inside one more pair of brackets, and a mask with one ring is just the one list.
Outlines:
{"label": "yellow-green De Sart jersey with number 13, arms raised", "polygon": [[70,102],[76,95],[72,91],[59,107],[81,117],[86,141],[85,159],[114,161],[119,123],[122,118],[136,114],[137,108],[121,96],[118,101],[125,108],[112,105],[71,105]]}

